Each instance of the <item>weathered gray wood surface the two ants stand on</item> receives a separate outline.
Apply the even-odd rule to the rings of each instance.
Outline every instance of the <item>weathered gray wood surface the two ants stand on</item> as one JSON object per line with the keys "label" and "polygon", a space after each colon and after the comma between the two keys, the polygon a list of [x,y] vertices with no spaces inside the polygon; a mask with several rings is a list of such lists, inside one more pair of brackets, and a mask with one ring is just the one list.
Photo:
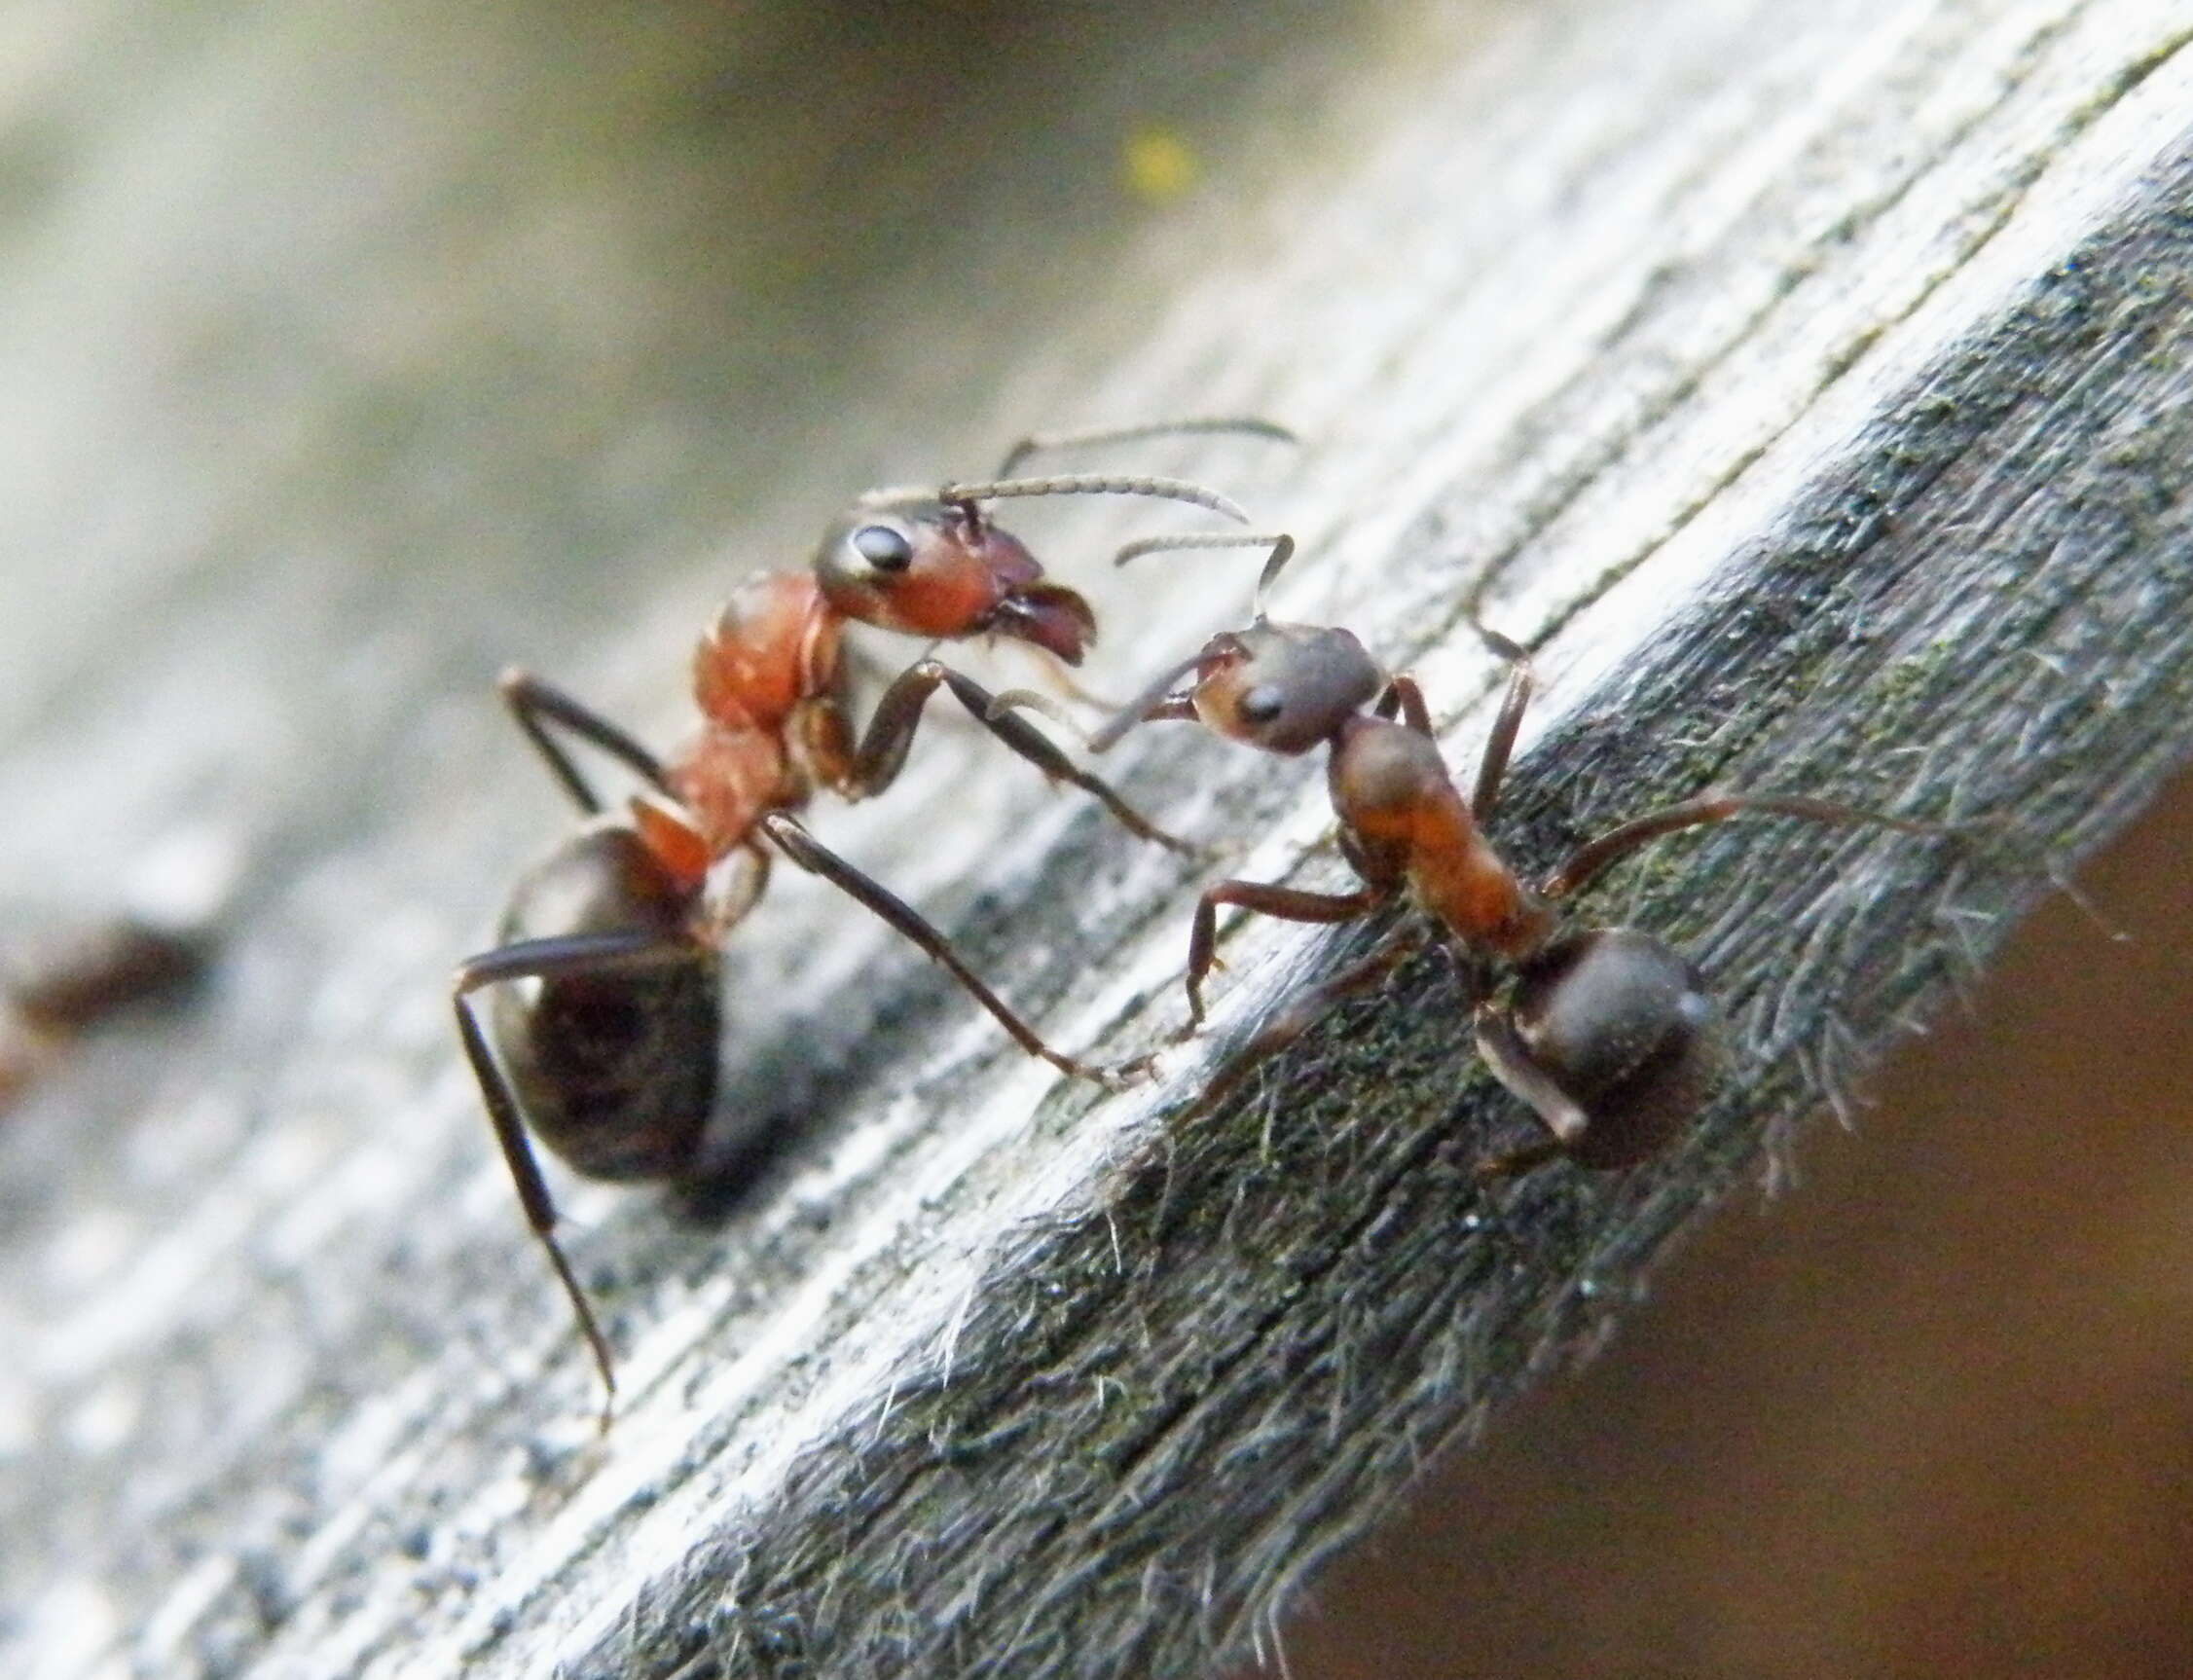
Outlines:
{"label": "weathered gray wood surface the two ants stand on", "polygon": [[[0,866],[96,897],[211,827],[246,882],[206,1009],[0,1138],[11,1671],[1202,1673],[1985,961],[2046,886],[2015,849],[2072,862],[2182,761],[2180,9],[1309,15],[1031,13],[996,57],[50,20],[9,92]],[[1114,197],[1116,136],[1182,112],[1206,195]],[[1463,592],[1539,645],[1518,853],[1706,781],[2015,847],[1752,827],[1612,884],[1737,1077],[1662,1165],[1493,1195],[1515,1112],[1434,963],[1171,1136],[1200,1053],[1057,1088],[787,882],[728,956],[724,1108],[787,1147],[706,1217],[568,1197],[625,1353],[596,1443],[439,994],[559,820],[489,676],[669,730],[719,544],[1213,408],[1311,443],[1167,465],[1303,533],[1281,610],[1414,669],[1456,759],[1496,682]],[[1147,520],[1029,529],[1094,588]],[[1096,680],[1237,575],[1101,590]],[[1239,873],[1338,877],[1311,768],[1121,761]],[[822,829],[1061,1042],[1147,1044],[1195,879],[1026,781],[939,730]],[[1219,1033],[1349,947],[1232,934]]]}

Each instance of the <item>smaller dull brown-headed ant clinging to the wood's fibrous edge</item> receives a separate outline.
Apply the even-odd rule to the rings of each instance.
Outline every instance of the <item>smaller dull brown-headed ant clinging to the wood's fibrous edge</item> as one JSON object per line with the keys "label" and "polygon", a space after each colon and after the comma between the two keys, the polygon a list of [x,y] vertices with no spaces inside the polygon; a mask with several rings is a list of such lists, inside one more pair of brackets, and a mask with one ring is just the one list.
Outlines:
{"label": "smaller dull brown-headed ant clinging to the wood's fibrous edge", "polygon": [[[1182,719],[1281,757],[1329,748],[1327,785],[1340,818],[1340,851],[1362,886],[1353,893],[1246,879],[1211,886],[1195,904],[1189,932],[1186,1031],[1204,1020],[1204,980],[1217,963],[1222,906],[1283,921],[1342,923],[1406,897],[1445,937],[1450,952],[1472,958],[1478,1053],[1546,1127],[1544,1138],[1480,1162],[1480,1178],[1555,1156],[1586,1167],[1629,1167],[1662,1149],[1713,1086],[1717,1011],[1700,972],[1636,928],[1561,926],[1564,906],[1612,864],[1662,836],[1746,814],[1952,833],[1820,798],[1708,790],[1632,818],[1577,847],[1544,879],[1524,882],[1485,833],[1531,702],[1531,656],[1518,643],[1476,625],[1507,662],[1509,682],[1465,798],[1439,754],[1412,678],[1384,671],[1347,629],[1276,623],[1265,614],[1265,592],[1294,555],[1292,537],[1149,537],[1123,548],[1118,559],[1164,548],[1263,544],[1272,553],[1257,581],[1250,625],[1222,632],[1171,665],[1090,735],[1088,746],[1103,752],[1140,724]],[[1182,680],[1186,686],[1175,691]],[[1050,702],[1026,691],[1007,693],[998,704],[1059,717]],[[1333,1002],[1377,983],[1428,937],[1419,930],[1393,939],[1353,967],[1303,987],[1219,1072],[1191,1114],[1215,1108],[1259,1062],[1300,1037]],[[1487,969],[1496,967],[1511,976],[1504,998],[1487,996]]]}

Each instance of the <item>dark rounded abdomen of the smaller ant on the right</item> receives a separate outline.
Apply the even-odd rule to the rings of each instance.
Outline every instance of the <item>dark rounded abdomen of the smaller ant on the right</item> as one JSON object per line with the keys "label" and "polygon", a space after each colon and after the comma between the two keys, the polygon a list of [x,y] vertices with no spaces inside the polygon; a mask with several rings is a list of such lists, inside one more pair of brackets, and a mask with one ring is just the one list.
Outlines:
{"label": "dark rounded abdomen of the smaller ant on the right", "polygon": [[[1717,1011],[1697,969],[1636,928],[1564,934],[1478,1009],[1487,1066],[1583,1167],[1629,1167],[1697,1114],[1719,1075]],[[1520,1151],[1535,1158],[1544,1151]]]}

